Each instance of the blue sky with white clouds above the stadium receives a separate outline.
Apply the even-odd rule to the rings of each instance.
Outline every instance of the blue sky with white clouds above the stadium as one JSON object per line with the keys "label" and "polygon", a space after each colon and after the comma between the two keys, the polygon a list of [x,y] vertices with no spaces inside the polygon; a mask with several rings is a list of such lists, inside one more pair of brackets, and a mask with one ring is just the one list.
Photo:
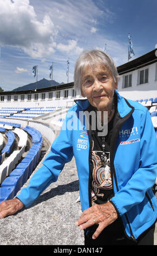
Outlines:
{"label": "blue sky with white clouds above the stadium", "polygon": [[[0,0],[0,87],[73,82],[83,50],[101,48],[116,66],[128,62],[128,33],[138,58],[157,44],[156,0]],[[67,60],[69,58],[69,77]]]}

